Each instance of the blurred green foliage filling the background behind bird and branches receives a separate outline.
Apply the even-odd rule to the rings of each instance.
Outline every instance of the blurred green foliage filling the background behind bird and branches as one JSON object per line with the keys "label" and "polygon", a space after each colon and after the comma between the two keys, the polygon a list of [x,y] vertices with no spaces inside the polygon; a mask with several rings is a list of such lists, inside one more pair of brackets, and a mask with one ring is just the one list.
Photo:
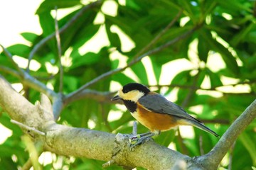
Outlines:
{"label": "blurred green foliage filling the background behind bird and branches", "polygon": [[[183,71],[178,72],[169,84],[164,84],[166,85],[163,88],[165,90],[159,86],[157,92],[166,96],[176,93],[178,105],[183,106],[186,111],[198,119],[209,120],[206,125],[219,135],[223,135],[235,118],[238,118],[256,96],[255,1],[127,0],[122,1],[125,2],[122,4],[119,2],[121,1],[104,1],[102,4],[92,6],[74,21],[73,26],[61,33],[63,56],[65,56],[65,60],[69,61],[68,64],[63,65],[63,93],[69,94],[75,91],[101,74],[116,69],[121,62],[134,60],[134,56],[151,42],[182,8],[183,13],[174,23],[174,26],[167,30],[151,48],[164,45],[192,28],[198,27],[198,29],[174,45],[149,56],[154,75],[148,75],[147,66],[142,62],[134,64],[130,71],[137,75],[137,79],[142,84],[149,85],[149,79],[155,77],[159,85],[160,77],[164,74],[164,64],[181,59],[184,62],[190,62],[193,65],[192,69],[183,68],[183,64],[181,64],[179,67],[182,67]],[[13,55],[28,59],[29,52],[33,47],[40,40],[54,33],[54,16],[51,11],[55,6],[58,8],[76,7],[75,11],[73,10],[58,21],[59,27],[62,28],[80,11],[83,7],[82,3],[84,1],[43,1],[36,11],[43,33],[41,35],[22,33],[23,38],[28,40],[31,45],[11,45],[7,47],[7,50]],[[110,8],[109,5],[117,7],[116,16],[106,12],[106,8]],[[108,11],[114,10],[114,8],[110,8]],[[124,37],[120,31],[117,32],[114,28],[119,28],[134,43],[134,47],[127,50]],[[99,33],[101,33],[100,38]],[[96,36],[98,37],[95,40]],[[106,38],[104,41],[107,41],[107,45],[102,45],[101,38]],[[89,50],[82,52],[82,47],[90,45],[91,40],[95,40],[95,43],[89,47]],[[191,50],[192,44],[193,49]],[[91,50],[92,48],[98,50],[95,52],[95,50]],[[46,45],[43,45],[33,57],[33,60],[41,64],[40,68],[36,71],[31,70],[33,77],[44,84],[51,84],[55,91],[59,89],[59,74],[50,72],[48,65],[59,67],[57,52],[56,40],[53,38]],[[119,57],[113,59],[111,56],[114,54]],[[218,54],[221,60],[217,56]],[[124,57],[126,60],[123,60]],[[212,64],[210,62],[214,61],[221,62],[220,64],[224,63],[225,67],[218,69],[218,71],[213,70],[210,67]],[[2,52],[0,54],[0,74],[11,83],[20,83],[21,79],[3,69],[6,67],[15,69],[8,57]],[[172,69],[169,68],[169,72]],[[239,90],[220,92],[218,87],[226,85],[227,83],[224,81],[227,78],[235,79],[235,82],[240,86],[246,86],[249,89],[248,92],[240,93]],[[90,89],[110,91],[110,83],[113,81],[124,85],[135,81],[135,79],[131,77],[131,74],[122,72],[107,77],[104,81],[91,86]],[[202,90],[203,81],[209,82],[209,90]],[[117,90],[117,87],[114,89]],[[29,92],[26,96],[32,103],[38,100],[39,93],[35,89],[28,89],[24,86],[23,91]],[[213,92],[219,95],[214,96]],[[191,110],[193,106],[201,106],[202,109],[195,113]],[[131,123],[134,120],[132,116],[126,111],[118,120],[108,120],[111,110],[119,111],[119,106],[114,106],[109,101],[98,102],[84,98],[68,105],[61,113],[58,123],[106,132],[131,133]],[[20,128],[10,123],[10,118],[4,111],[0,112],[0,122],[12,130],[12,135],[0,145],[0,167],[1,169],[16,169],[23,166],[28,160],[28,152],[25,150],[26,143],[21,140]],[[232,157],[233,169],[252,169],[252,166],[256,166],[255,127],[256,122],[254,121],[245,132],[242,132],[242,135],[235,142],[232,154],[228,153],[228,157],[220,166],[228,168],[228,158],[230,157]],[[142,125],[138,126],[138,130],[139,132],[147,131]],[[176,150],[188,154],[190,157],[209,152],[218,142],[218,138],[206,132],[198,129],[194,129],[194,132],[195,137],[193,139],[181,138],[181,136],[177,136],[177,132],[174,130],[162,132],[159,137],[155,137],[155,141],[166,147],[171,143],[176,147]],[[43,169],[102,169],[104,163],[85,158],[71,159],[54,154],[53,156],[53,162],[44,164]],[[112,166],[110,169],[120,168]]]}

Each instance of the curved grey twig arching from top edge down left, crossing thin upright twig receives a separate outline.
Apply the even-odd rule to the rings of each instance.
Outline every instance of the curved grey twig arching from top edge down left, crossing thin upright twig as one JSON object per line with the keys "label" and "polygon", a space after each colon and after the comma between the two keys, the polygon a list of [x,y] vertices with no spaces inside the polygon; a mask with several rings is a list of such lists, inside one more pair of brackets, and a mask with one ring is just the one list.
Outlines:
{"label": "curved grey twig arching from top edge down left, crossing thin upright twig", "polygon": [[[75,21],[78,21],[78,18],[80,18],[80,16],[82,16],[83,13],[85,13],[88,9],[90,8],[94,8],[95,6],[98,6],[102,4],[101,0],[92,2],[91,4],[88,4],[87,6],[83,7],[78,13],[75,14],[75,16],[73,16],[73,18],[70,19],[70,21],[68,21],[68,23],[65,24],[65,26],[63,26],[62,28],[60,28],[59,33],[63,33],[65,30],[67,30],[70,26],[73,25],[73,23],[75,23]],[[36,52],[38,52],[38,50],[43,47],[43,45],[46,44],[46,42],[48,42],[49,40],[51,40],[52,38],[55,37],[55,33],[51,33],[50,35],[48,35],[46,38],[43,38],[43,40],[41,40],[40,42],[38,42],[34,47],[33,50],[31,50],[30,54],[28,55],[28,65],[27,65],[27,72],[29,72],[29,65],[31,63],[31,60],[33,59],[33,56],[36,54]]]}

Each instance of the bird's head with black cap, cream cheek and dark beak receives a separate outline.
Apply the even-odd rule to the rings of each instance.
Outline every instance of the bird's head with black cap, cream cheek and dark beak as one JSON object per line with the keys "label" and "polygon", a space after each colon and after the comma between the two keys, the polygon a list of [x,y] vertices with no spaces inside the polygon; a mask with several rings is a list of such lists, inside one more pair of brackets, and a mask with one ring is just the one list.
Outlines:
{"label": "bird's head with black cap, cream cheek and dark beak", "polygon": [[130,83],[119,89],[118,95],[114,96],[111,100],[116,101],[121,99],[123,101],[133,101],[136,103],[139,98],[145,96],[149,92],[150,90],[142,84]]}

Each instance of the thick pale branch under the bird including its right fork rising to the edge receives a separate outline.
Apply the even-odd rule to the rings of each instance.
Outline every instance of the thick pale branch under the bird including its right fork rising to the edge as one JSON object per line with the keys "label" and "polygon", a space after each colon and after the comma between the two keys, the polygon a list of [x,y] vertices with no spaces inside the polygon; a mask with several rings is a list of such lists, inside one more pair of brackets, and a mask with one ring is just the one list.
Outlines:
{"label": "thick pale branch under the bird including its right fork rising to the edge", "polygon": [[[8,97],[6,97],[8,96]],[[54,122],[52,107],[46,95],[36,106],[18,94],[11,85],[0,77],[0,106],[10,117],[28,127],[36,128],[46,135],[33,135],[41,140],[44,148],[56,154],[73,155],[110,161],[119,165],[146,169],[171,169],[176,162],[186,162],[188,169],[216,169],[229,147],[242,130],[256,116],[256,100],[245,110],[220,138],[217,145],[206,155],[191,158],[149,141],[129,151],[127,135],[117,135],[85,128],[70,128]],[[27,132],[27,130],[24,130]],[[31,131],[33,132],[33,131]],[[164,158],[164,159],[163,159]]]}

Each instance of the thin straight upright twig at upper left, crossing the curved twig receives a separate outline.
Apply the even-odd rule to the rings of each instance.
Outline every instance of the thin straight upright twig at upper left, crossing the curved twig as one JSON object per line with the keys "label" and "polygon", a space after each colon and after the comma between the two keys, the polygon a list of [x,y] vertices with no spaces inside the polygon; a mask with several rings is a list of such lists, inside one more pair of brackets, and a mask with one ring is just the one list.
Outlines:
{"label": "thin straight upright twig at upper left, crossing the curved twig", "polygon": [[57,20],[57,13],[58,13],[58,8],[57,6],[55,6],[55,38],[57,41],[57,47],[58,47],[58,59],[60,62],[60,87],[59,87],[59,91],[62,92],[63,91],[63,65],[61,63],[61,43],[60,43],[60,32],[59,32],[59,28],[58,28],[58,20]]}

